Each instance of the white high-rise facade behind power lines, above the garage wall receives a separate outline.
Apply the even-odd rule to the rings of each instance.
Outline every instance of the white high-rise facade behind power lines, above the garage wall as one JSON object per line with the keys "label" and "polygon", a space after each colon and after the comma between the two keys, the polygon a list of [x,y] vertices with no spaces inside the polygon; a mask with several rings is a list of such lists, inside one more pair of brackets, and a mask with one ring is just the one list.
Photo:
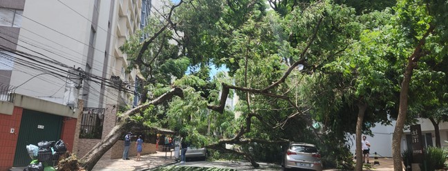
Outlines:
{"label": "white high-rise facade behind power lines, above the garage wall", "polygon": [[0,89],[79,112],[73,152],[82,156],[110,132],[120,106],[138,101],[136,70],[125,71],[119,48],[150,8],[151,0],[0,1]]}

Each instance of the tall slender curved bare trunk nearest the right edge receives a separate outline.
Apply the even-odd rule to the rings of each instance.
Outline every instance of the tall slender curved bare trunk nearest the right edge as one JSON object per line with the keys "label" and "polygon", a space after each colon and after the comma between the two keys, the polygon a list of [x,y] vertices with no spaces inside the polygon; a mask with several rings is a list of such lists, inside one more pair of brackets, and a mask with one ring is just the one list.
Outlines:
{"label": "tall slender curved bare trunk nearest the right edge", "polygon": [[430,23],[427,32],[423,34],[423,37],[420,39],[418,45],[414,49],[414,52],[408,58],[407,67],[404,71],[404,79],[400,90],[400,107],[398,108],[397,122],[395,123],[395,130],[393,130],[392,137],[393,170],[395,171],[403,170],[401,157],[401,137],[403,134],[404,121],[406,120],[409,83],[411,83],[413,68],[416,67],[418,60],[422,57],[422,47],[426,42],[426,38],[431,32],[433,32],[434,28],[435,26]]}

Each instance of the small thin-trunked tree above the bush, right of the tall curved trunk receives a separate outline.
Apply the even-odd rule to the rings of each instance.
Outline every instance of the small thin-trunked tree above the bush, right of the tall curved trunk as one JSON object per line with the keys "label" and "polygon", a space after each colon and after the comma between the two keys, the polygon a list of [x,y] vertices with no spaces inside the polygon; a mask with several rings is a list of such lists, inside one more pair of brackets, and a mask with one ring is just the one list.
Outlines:
{"label": "small thin-trunked tree above the bush, right of the tall curved trunk", "polygon": [[441,147],[439,123],[448,121],[446,96],[448,70],[442,67],[448,64],[448,58],[444,57],[443,53],[436,50],[429,54],[432,57],[422,59],[418,68],[414,70],[409,92],[409,96],[413,97],[409,102],[409,113],[431,121],[435,130],[436,146],[439,148]]}

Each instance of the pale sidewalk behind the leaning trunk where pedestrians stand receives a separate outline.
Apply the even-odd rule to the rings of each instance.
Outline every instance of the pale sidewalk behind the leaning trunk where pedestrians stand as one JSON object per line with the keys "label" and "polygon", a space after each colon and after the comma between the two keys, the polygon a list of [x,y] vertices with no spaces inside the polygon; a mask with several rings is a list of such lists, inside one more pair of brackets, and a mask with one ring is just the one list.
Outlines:
{"label": "pale sidewalk behind the leaning trunk where pedestrians stand", "polygon": [[169,152],[167,153],[167,159],[165,159],[165,152],[156,152],[154,154],[147,154],[140,157],[140,161],[136,161],[136,157],[130,157],[130,160],[123,159],[106,159],[100,160],[93,168],[93,171],[130,171],[130,170],[143,170],[148,168],[156,168],[160,165],[167,165],[176,163],[174,161],[174,153],[171,159],[169,158]]}

